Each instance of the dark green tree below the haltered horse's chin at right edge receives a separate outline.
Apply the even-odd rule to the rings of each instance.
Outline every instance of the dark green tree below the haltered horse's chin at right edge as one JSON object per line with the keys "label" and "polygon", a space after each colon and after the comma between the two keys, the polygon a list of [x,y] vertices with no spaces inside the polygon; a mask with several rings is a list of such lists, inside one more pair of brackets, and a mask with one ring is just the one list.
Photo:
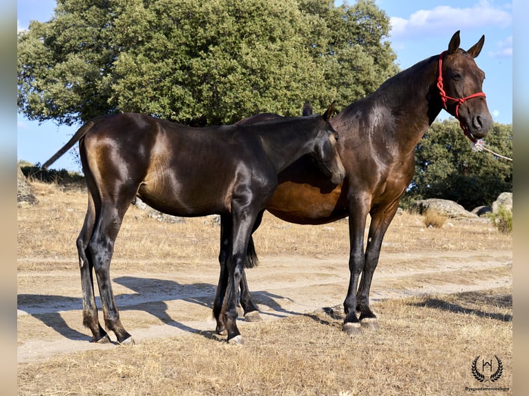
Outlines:
{"label": "dark green tree below the haltered horse's chin at right edge", "polygon": [[[512,158],[512,125],[493,123],[485,147]],[[403,199],[450,199],[472,210],[512,191],[512,162],[474,152],[451,118],[436,121],[416,147],[415,176]]]}

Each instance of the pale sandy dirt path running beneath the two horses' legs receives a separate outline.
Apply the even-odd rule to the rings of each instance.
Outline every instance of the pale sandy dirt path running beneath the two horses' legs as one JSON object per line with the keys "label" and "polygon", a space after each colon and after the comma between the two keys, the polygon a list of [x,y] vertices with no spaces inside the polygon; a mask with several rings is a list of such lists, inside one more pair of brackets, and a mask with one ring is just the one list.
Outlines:
{"label": "pale sandy dirt path running beneath the two horses' legs", "polygon": [[[247,270],[247,277],[265,321],[341,306],[345,298],[349,280],[347,256],[261,257],[260,261],[260,266]],[[81,324],[79,271],[73,262],[65,260],[64,268],[46,273],[19,273],[19,363],[79,350],[114,348],[88,342],[89,331]],[[57,261],[54,264],[57,268]],[[130,263],[130,271],[111,273],[122,322],[136,342],[214,330],[211,307],[218,281],[216,261],[177,273],[146,273],[141,267],[141,263]],[[507,250],[385,253],[375,273],[371,298],[376,310],[380,299],[511,284],[512,252]],[[251,325],[240,321],[241,328]],[[113,335],[111,338],[115,339]]]}

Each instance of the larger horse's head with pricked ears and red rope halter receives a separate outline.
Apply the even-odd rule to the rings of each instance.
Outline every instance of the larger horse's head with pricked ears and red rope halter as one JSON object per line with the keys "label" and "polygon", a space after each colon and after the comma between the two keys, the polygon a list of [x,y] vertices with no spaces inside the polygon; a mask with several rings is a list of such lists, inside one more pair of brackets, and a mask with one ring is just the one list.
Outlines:
{"label": "larger horse's head with pricked ears and red rope halter", "polygon": [[492,126],[483,80],[485,73],[477,67],[474,58],[479,55],[485,36],[469,50],[459,48],[459,30],[448,44],[448,50],[439,57],[437,86],[443,107],[459,119],[461,128],[472,141],[487,135]]}

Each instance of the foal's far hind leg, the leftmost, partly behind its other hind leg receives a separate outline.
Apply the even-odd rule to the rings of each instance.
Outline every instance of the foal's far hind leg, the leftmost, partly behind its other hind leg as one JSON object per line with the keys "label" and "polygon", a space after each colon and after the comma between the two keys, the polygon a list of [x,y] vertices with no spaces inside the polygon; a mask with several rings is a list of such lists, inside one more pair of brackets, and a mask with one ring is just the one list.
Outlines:
{"label": "foal's far hind leg, the leftmost, partly behind its other hind leg", "polygon": [[95,222],[95,208],[92,196],[88,195],[88,210],[84,218],[83,228],[77,237],[77,252],[79,253],[79,268],[81,270],[81,290],[83,293],[83,324],[92,332],[93,342],[109,342],[106,331],[99,324],[97,305],[95,304],[93,263],[86,247],[92,235]]}

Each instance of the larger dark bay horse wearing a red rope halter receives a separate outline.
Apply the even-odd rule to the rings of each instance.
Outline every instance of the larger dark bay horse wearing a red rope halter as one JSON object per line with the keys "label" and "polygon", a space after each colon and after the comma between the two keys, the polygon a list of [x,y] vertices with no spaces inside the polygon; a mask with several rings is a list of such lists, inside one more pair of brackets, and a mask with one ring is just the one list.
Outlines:
{"label": "larger dark bay horse wearing a red rope halter", "polygon": [[[267,203],[273,215],[297,224],[325,224],[349,216],[350,279],[343,330],[350,335],[359,333],[361,325],[378,327],[369,308],[369,288],[383,237],[414,175],[415,147],[427,128],[443,108],[459,119],[472,141],[487,135],[492,125],[482,92],[485,75],[474,61],[485,37],[467,51],[459,48],[459,41],[458,31],[441,55],[387,79],[331,120],[340,134],[338,152],[347,171],[343,184],[329,189],[325,177],[302,157],[280,172],[279,186]],[[367,215],[371,224],[364,248]],[[241,304],[247,315],[255,304],[244,280]]]}

